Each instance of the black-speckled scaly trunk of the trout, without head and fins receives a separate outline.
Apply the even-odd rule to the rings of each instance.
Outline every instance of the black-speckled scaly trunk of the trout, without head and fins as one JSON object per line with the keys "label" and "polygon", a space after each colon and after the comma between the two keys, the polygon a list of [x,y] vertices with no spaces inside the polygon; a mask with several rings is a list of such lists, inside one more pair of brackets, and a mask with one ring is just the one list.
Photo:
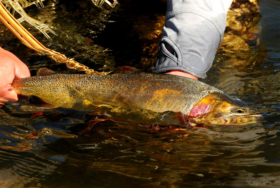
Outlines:
{"label": "black-speckled scaly trunk of the trout, without head and fins", "polygon": [[[30,86],[21,88],[20,85]],[[47,103],[75,110],[91,110],[100,104],[107,104],[155,112],[180,111],[184,114],[190,111],[192,104],[209,93],[223,93],[185,77],[144,72],[118,75],[52,74],[15,79],[13,86],[22,95],[34,95]]]}

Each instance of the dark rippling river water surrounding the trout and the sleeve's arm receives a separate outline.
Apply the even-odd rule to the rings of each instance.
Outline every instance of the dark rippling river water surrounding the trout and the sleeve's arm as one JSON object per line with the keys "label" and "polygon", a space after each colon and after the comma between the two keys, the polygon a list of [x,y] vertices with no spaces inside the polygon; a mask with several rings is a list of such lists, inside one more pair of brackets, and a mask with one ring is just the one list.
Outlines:
{"label": "dark rippling river water surrounding the trout and the sleeve's arm", "polygon": [[[94,70],[149,70],[166,5],[120,2],[118,10],[85,0],[27,8],[29,16],[68,35],[50,34],[55,44],[22,24],[50,49]],[[0,187],[279,187],[279,7],[279,1],[260,1],[259,12],[235,16],[252,23],[251,30],[236,29],[238,22],[227,27],[202,80],[258,107],[262,123],[154,132],[104,121],[82,133],[89,118],[84,112],[43,109],[38,99],[23,98],[0,109]],[[28,49],[3,24],[0,30],[1,46],[26,63],[31,75],[42,67],[81,73]]]}

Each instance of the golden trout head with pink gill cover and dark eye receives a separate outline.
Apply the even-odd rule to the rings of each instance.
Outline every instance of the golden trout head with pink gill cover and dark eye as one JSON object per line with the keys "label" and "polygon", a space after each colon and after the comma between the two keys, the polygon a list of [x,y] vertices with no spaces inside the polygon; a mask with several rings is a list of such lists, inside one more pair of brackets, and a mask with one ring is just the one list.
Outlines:
{"label": "golden trout head with pink gill cover and dark eye", "polygon": [[188,115],[203,125],[245,125],[260,122],[258,111],[225,93],[210,93],[197,102]]}

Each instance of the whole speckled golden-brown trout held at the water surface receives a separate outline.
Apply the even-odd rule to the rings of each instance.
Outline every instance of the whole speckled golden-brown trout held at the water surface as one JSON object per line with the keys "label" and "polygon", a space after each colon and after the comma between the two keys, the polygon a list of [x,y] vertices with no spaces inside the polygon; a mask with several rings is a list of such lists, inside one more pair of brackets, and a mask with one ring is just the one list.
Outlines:
{"label": "whole speckled golden-brown trout held at the water surface", "polygon": [[120,74],[53,74],[15,78],[17,94],[57,107],[92,111],[127,123],[175,125],[248,124],[262,120],[254,109],[201,81],[122,67]]}

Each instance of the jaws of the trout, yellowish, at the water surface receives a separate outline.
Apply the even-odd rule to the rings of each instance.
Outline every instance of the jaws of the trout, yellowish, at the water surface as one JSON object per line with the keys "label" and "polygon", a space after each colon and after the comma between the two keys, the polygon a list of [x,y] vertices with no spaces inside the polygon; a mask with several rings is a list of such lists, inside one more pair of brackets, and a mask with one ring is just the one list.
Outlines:
{"label": "jaws of the trout, yellowish, at the water surface", "polygon": [[204,125],[246,125],[257,123],[263,120],[261,114],[244,114],[244,115],[228,115],[214,119],[204,119],[203,117],[198,120],[199,123]]}

